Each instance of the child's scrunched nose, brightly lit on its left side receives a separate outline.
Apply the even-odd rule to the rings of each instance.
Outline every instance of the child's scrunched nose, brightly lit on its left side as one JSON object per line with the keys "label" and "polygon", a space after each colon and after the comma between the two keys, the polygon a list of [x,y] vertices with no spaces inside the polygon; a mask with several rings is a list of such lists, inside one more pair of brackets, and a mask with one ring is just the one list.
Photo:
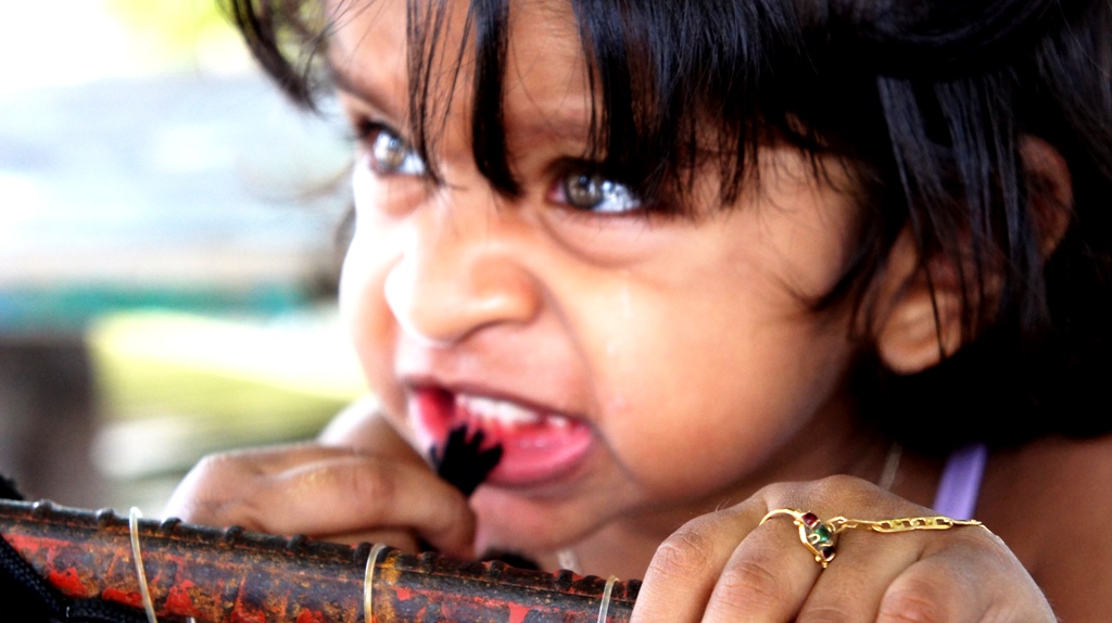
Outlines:
{"label": "child's scrunched nose, brightly lit on its left side", "polygon": [[[463,193],[461,193],[463,194]],[[466,199],[466,198],[465,198]],[[461,201],[415,215],[413,238],[386,277],[386,302],[411,339],[450,345],[494,326],[526,323],[539,294],[522,263],[513,208]]]}

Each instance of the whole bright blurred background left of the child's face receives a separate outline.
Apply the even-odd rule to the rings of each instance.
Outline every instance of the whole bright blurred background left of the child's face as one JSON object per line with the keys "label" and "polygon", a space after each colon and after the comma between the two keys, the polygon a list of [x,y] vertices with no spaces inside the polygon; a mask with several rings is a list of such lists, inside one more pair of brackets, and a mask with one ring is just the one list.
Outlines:
{"label": "whole bright blurred background left of the child's face", "polygon": [[219,0],[6,0],[0,58],[0,471],[156,515],[203,454],[311,436],[360,393],[347,140]]}

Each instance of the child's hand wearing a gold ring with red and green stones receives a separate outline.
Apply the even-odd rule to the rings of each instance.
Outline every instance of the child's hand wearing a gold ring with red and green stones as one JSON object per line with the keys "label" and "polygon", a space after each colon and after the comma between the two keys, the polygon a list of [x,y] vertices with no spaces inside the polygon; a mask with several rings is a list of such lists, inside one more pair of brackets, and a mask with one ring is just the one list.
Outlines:
{"label": "child's hand wearing a gold ring with red and green stones", "polygon": [[1055,621],[1003,541],[975,526],[881,534],[846,530],[825,570],[787,515],[935,515],[867,482],[774,484],[688,522],[657,550],[633,621]]}

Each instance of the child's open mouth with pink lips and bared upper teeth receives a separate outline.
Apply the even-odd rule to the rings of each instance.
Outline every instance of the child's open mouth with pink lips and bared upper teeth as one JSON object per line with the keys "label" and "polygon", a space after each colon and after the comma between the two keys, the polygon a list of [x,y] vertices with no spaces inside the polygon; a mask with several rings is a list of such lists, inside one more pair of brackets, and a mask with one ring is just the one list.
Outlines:
{"label": "child's open mouth with pink lips and bared upper teeth", "polygon": [[419,441],[441,446],[460,425],[483,432],[484,448],[500,445],[502,460],[487,482],[525,486],[558,480],[586,458],[594,441],[582,420],[486,395],[423,388],[414,392],[410,420]]}

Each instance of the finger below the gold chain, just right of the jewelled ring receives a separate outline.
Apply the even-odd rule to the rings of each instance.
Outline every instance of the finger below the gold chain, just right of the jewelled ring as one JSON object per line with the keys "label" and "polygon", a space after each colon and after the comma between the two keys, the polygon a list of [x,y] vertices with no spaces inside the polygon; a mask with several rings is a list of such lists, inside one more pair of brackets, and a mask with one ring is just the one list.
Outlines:
{"label": "finger below the gold chain, just right of the jewelled ring", "polygon": [[847,531],[800,611],[797,623],[875,621],[892,582],[922,554],[922,535]]}

